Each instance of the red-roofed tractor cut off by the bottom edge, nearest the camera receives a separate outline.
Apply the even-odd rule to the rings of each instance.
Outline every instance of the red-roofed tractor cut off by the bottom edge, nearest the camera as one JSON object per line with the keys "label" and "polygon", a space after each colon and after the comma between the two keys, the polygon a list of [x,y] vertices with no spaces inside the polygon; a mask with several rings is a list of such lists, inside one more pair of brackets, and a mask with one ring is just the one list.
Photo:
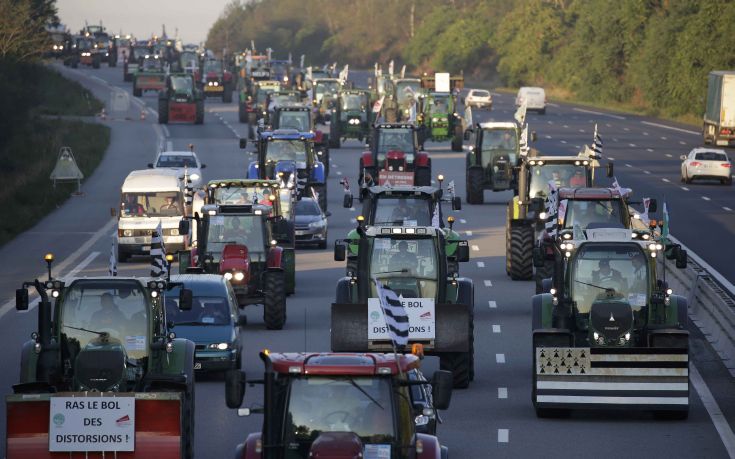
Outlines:
{"label": "red-roofed tractor cut off by the bottom edge, nearest the camera", "polygon": [[[420,346],[417,346],[420,348]],[[227,372],[229,408],[242,405],[245,385],[263,384],[263,429],[237,446],[235,457],[251,458],[439,458],[446,446],[436,437],[436,410],[449,407],[452,374],[431,381],[416,355],[260,353],[262,379]]]}

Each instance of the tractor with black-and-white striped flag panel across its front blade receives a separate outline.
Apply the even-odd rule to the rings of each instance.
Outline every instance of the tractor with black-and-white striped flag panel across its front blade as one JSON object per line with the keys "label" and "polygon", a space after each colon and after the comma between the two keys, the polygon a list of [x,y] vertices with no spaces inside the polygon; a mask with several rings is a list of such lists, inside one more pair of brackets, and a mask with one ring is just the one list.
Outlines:
{"label": "tractor with black-and-white striped flag panel across its front blade", "polygon": [[687,301],[659,279],[656,263],[665,254],[685,268],[686,252],[637,241],[628,228],[586,233],[555,252],[560,275],[531,300],[536,414],[604,408],[686,418]]}

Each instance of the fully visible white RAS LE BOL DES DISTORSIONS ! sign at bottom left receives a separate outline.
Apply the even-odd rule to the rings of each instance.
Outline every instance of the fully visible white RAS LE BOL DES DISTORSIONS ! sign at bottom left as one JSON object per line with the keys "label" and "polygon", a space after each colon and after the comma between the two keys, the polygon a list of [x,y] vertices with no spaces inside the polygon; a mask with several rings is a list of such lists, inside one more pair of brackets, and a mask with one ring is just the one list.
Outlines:
{"label": "fully visible white RAS LE BOL DES DISTORSIONS ! sign at bottom left", "polygon": [[51,397],[49,451],[135,451],[135,397]]}

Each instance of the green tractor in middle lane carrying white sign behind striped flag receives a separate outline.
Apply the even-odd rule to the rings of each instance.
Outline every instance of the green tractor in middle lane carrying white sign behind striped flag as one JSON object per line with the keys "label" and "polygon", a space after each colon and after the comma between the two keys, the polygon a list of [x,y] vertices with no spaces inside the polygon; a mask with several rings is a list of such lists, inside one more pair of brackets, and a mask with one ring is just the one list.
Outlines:
{"label": "green tractor in middle lane carrying white sign behind striped flag", "polygon": [[357,227],[357,240],[337,241],[335,261],[357,244],[357,270],[337,282],[332,305],[332,351],[390,351],[377,282],[398,296],[408,314],[409,344],[421,344],[453,373],[454,387],[474,379],[474,285],[450,263],[469,260],[467,241],[446,253],[444,231],[432,226]]}

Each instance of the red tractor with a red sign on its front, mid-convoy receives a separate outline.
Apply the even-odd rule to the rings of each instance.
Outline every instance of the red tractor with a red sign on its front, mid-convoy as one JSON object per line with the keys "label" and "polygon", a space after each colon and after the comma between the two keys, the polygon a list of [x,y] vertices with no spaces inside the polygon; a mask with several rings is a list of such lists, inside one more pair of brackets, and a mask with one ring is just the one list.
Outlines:
{"label": "red tractor with a red sign on its front, mid-convoy", "polygon": [[418,134],[413,124],[373,125],[370,150],[360,157],[360,199],[373,185],[431,185],[431,158],[419,150]]}

